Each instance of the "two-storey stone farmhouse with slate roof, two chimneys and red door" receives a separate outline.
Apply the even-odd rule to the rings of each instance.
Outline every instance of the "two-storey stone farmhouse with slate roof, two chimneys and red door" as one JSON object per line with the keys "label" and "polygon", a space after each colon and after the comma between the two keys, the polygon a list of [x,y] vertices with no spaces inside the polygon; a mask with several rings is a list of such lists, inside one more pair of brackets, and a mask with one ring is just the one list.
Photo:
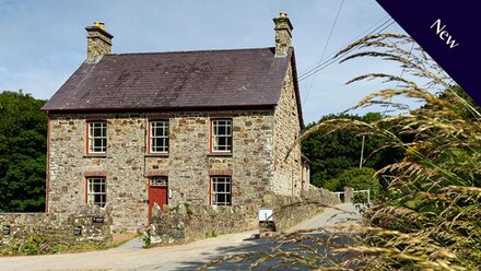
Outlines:
{"label": "two-storey stone farmhouse with slate roof, two chimneys and red door", "polygon": [[309,187],[292,24],[273,19],[275,46],[112,54],[102,23],[87,57],[44,106],[47,207],[109,204],[114,231],[150,223],[156,202],[243,205]]}

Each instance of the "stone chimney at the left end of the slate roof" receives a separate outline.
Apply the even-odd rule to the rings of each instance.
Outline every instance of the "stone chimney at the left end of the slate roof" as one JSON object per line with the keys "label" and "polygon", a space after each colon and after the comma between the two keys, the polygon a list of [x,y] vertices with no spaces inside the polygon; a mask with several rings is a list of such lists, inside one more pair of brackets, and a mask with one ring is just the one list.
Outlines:
{"label": "stone chimney at the left end of the slate roof", "polygon": [[93,26],[86,26],[86,62],[95,63],[102,56],[112,52],[112,39],[114,38],[104,30],[105,24],[94,22]]}

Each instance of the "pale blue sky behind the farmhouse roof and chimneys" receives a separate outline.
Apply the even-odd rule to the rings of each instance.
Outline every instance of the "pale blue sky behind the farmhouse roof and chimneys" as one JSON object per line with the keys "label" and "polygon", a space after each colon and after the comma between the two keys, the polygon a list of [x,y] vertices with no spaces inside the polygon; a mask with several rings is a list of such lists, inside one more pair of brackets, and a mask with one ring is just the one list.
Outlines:
{"label": "pale blue sky behind the farmhouse roof and chimneys", "polygon": [[[272,17],[285,11],[294,25],[297,73],[320,59],[341,0],[0,0],[0,91],[22,89],[49,98],[85,60],[84,27],[102,21],[114,52],[269,47]],[[344,0],[327,56],[387,13],[375,0]],[[395,23],[385,32],[402,32]],[[369,81],[345,85],[367,72],[401,69],[369,59],[335,63],[301,82],[305,123],[354,105],[386,87]]]}

